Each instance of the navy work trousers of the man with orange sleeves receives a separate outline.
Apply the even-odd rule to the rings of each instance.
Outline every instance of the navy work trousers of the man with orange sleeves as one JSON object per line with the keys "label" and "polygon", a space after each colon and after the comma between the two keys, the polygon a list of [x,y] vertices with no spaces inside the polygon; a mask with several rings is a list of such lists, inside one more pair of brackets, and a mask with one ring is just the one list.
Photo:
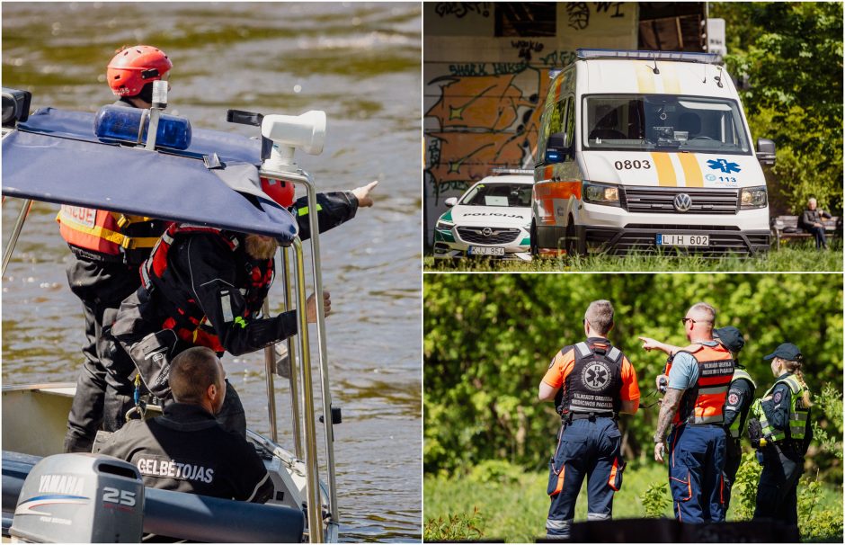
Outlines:
{"label": "navy work trousers of the man with orange sleeves", "polygon": [[574,420],[561,428],[555,457],[549,462],[548,537],[569,537],[584,478],[587,520],[610,518],[613,493],[622,485],[621,442],[616,422],[608,417]]}

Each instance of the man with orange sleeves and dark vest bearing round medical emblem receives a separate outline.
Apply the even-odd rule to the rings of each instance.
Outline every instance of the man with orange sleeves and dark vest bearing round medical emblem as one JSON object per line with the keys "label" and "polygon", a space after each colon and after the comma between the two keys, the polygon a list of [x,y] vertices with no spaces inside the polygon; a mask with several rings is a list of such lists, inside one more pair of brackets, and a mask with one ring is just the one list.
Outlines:
{"label": "man with orange sleeves and dark vest bearing round medical emblem", "polygon": [[554,400],[563,425],[549,462],[551,506],[546,522],[550,539],[568,539],[575,499],[587,478],[587,520],[610,518],[613,494],[622,486],[621,442],[617,417],[639,407],[636,371],[625,354],[609,343],[613,327],[610,301],[590,303],[584,313],[582,343],[567,345],[555,356],[540,382],[540,400]]}

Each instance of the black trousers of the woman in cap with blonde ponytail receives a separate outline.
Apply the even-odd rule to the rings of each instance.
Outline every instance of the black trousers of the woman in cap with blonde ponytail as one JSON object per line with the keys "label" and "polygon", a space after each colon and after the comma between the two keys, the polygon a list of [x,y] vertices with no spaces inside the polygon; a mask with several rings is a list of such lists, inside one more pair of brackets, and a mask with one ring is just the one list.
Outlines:
{"label": "black trousers of the woman in cap with blonde ponytail", "polygon": [[804,473],[804,455],[784,442],[767,445],[762,454],[763,470],[757,485],[754,519],[769,518],[798,524],[798,479]]}

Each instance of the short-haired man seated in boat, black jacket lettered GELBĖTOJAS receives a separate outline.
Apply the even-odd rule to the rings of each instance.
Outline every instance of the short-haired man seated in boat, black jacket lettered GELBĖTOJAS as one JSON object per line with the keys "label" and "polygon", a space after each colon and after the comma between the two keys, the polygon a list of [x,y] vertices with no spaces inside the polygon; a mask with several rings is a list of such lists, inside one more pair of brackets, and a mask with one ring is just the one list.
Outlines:
{"label": "short-haired man seated in boat, black jacket lettered GELB\u0116TOJAS", "polygon": [[165,414],[130,421],[100,453],[137,466],[147,487],[263,504],[273,492],[264,463],[249,442],[214,417],[226,398],[224,377],[209,348],[179,354]]}

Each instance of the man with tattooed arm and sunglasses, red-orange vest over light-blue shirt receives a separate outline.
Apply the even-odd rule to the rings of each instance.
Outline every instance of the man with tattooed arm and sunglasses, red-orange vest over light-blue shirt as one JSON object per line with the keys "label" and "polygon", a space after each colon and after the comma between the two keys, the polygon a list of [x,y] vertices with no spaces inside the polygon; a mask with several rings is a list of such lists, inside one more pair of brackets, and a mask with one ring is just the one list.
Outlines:
{"label": "man with tattooed arm and sunglasses, red-orange vest over light-blue shirt", "polygon": [[681,318],[691,343],[676,353],[654,433],[654,460],[663,462],[669,434],[669,485],[684,523],[725,520],[725,397],[734,356],[713,338],[716,309],[697,303]]}

